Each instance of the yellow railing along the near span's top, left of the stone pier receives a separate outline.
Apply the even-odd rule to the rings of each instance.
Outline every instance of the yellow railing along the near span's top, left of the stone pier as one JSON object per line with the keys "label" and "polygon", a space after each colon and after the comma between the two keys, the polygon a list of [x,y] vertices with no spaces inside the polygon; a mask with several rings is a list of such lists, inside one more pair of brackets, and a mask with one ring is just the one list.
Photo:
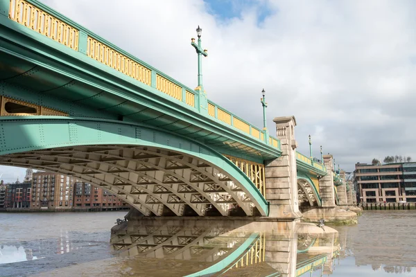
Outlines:
{"label": "yellow railing along the near span's top, left of the stone pier", "polygon": [[[200,96],[198,92],[177,82],[177,80],[173,80],[173,78],[158,71],[153,66],[107,42],[102,37],[76,24],[76,22],[64,17],[59,12],[52,10],[37,0],[8,1],[10,1],[8,14],[13,21],[31,28],[35,32],[49,37],[74,51],[83,53],[92,60],[119,71],[119,73],[133,78],[142,84],[153,87],[167,96],[171,96],[173,101],[183,102],[185,104],[184,107],[199,110]],[[254,127],[242,118],[214,104],[214,102],[209,101],[208,114],[248,136],[253,136],[266,144],[280,149],[279,140],[272,137],[268,138],[264,130]]]}

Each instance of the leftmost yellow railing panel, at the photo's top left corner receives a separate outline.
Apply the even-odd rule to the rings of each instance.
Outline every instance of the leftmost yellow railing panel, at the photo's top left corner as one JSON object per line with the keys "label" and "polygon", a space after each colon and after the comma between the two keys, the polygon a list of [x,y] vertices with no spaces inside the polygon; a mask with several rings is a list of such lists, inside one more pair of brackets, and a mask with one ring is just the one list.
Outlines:
{"label": "leftmost yellow railing panel, at the photo's top left corner", "polygon": [[10,19],[78,51],[78,30],[23,0],[10,0]]}

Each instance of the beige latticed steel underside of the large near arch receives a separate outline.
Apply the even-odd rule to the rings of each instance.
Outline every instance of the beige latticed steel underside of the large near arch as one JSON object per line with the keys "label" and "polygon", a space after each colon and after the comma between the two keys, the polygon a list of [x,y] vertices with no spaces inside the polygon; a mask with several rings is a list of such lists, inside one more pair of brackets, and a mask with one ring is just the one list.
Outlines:
{"label": "beige latticed steel underside of the large near arch", "polygon": [[2,155],[0,164],[76,177],[116,194],[143,215],[253,215],[255,206],[221,168],[147,146],[49,148]]}

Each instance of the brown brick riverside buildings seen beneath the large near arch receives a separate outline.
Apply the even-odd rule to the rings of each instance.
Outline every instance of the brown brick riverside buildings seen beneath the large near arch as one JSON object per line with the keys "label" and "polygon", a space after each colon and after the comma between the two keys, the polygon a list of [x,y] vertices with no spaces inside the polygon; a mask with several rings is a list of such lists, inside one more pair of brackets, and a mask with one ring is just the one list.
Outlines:
{"label": "brown brick riverside buildings seen beneath the large near arch", "polygon": [[111,193],[74,177],[51,172],[34,172],[32,209],[119,209],[127,204]]}

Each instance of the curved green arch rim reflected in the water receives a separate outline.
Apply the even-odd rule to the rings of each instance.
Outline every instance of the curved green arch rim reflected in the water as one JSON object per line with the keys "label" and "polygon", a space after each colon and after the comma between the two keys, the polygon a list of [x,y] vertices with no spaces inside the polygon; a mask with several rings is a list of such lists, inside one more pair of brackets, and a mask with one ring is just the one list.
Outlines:
{"label": "curved green arch rim reflected in the water", "polygon": [[245,240],[245,242],[243,242],[235,251],[233,251],[227,257],[223,258],[223,260],[220,260],[215,265],[211,265],[211,267],[198,271],[194,274],[189,274],[185,277],[209,276],[210,274],[214,274],[218,271],[225,269],[226,267],[229,267],[232,264],[232,262],[234,262],[234,260],[236,260],[237,258],[239,258],[239,256],[248,251],[248,249],[250,249],[250,245],[252,245],[258,238],[259,233],[252,233],[250,237],[247,240]]}

